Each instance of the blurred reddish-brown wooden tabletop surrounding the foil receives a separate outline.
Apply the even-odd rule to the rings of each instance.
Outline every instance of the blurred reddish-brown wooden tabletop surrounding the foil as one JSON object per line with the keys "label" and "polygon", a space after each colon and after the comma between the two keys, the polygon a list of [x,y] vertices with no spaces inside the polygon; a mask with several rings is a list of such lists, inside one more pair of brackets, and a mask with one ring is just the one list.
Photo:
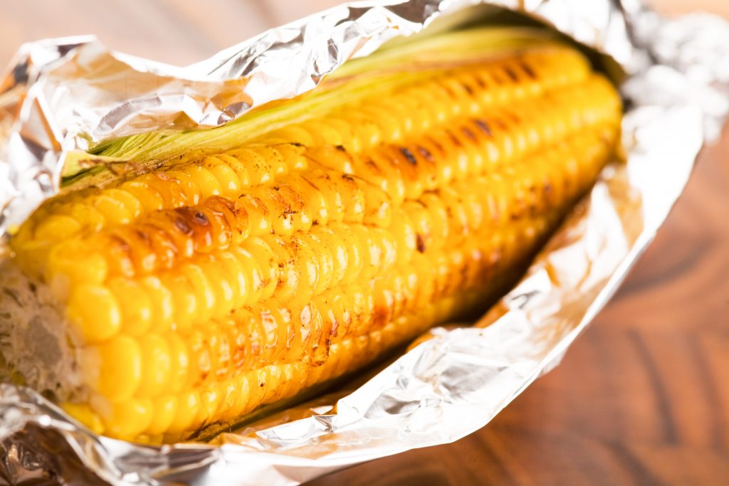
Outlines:
{"label": "blurred reddish-brown wooden tabletop surrounding the foil", "polygon": [[[0,1],[0,64],[21,42],[93,33],[192,63],[338,0]],[[660,0],[670,12],[725,0]],[[486,428],[312,482],[729,485],[729,130],[623,288],[564,362]]]}

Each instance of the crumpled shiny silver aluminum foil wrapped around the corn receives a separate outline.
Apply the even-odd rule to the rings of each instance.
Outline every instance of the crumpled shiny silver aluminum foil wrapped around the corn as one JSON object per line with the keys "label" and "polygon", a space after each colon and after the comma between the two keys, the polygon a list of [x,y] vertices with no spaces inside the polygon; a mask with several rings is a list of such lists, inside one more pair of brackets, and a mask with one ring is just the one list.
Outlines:
{"label": "crumpled shiny silver aluminum foil wrapped around the corn", "polygon": [[110,52],[93,38],[27,44],[0,85],[0,230],[58,190],[70,150],[158,128],[221,125],[311,90],[348,58],[472,4],[536,17],[629,75],[627,162],[604,171],[523,281],[477,326],[435,330],[348,396],[210,444],[144,447],[96,436],[37,393],[0,385],[0,482],[294,485],[459,439],[558,364],[654,237],[704,142],[719,133],[729,111],[729,24],[718,17],[666,20],[639,0],[367,1],[187,68]]}

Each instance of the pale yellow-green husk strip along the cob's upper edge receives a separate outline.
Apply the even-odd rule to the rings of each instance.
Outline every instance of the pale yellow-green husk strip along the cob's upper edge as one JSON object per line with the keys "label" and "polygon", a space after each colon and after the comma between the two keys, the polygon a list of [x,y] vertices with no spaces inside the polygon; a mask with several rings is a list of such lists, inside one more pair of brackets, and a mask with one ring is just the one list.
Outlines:
{"label": "pale yellow-green husk strip along the cob's upper edge", "polygon": [[[139,165],[158,165],[192,151],[235,149],[265,132],[316,117],[329,111],[332,105],[351,103],[373,93],[426,79],[444,67],[506,57],[535,45],[548,49],[555,43],[555,37],[547,31],[514,27],[472,28],[397,39],[373,55],[344,64],[315,90],[292,100],[266,103],[222,127],[152,131],[102,141],[89,153],[73,152],[66,160],[63,186],[103,173],[109,162],[133,160]],[[333,87],[337,89],[332,90]]]}

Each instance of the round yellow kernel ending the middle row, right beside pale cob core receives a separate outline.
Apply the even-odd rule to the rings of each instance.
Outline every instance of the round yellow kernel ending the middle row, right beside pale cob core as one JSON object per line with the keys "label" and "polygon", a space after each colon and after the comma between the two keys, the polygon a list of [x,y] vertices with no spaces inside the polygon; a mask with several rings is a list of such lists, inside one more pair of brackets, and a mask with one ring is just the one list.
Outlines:
{"label": "round yellow kernel ending the middle row, right beside pale cob core", "polygon": [[122,327],[119,301],[104,286],[82,284],[74,287],[66,315],[82,342],[108,340]]}

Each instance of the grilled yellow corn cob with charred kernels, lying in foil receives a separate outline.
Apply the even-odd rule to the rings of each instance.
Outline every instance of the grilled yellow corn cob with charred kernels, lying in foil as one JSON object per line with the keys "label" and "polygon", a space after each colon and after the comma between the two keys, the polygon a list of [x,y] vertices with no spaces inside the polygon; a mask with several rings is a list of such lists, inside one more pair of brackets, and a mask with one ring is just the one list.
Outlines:
{"label": "grilled yellow corn cob with charred kernels, lying in foil", "polygon": [[[12,239],[0,328],[42,328],[63,366],[0,350],[110,436],[233,422],[495,297],[609,160],[620,111],[550,44],[56,197]],[[31,302],[54,331],[17,321]]]}

